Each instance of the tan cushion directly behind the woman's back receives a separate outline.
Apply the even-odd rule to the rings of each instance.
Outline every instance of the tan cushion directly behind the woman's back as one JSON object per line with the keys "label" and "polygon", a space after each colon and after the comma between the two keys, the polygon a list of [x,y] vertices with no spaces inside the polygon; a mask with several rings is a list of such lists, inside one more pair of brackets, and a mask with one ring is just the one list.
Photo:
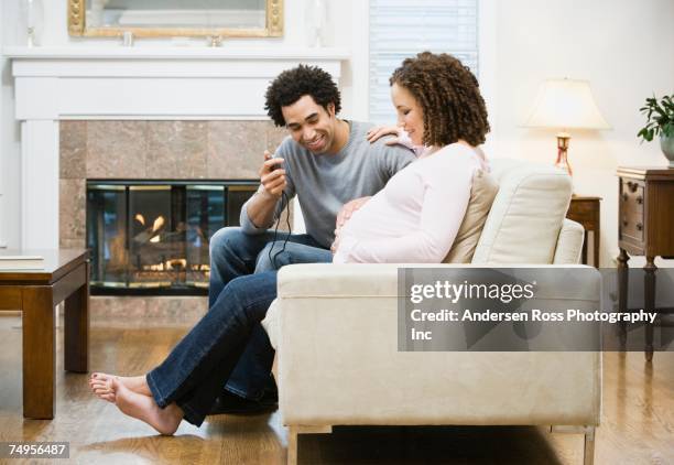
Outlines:
{"label": "tan cushion directly behind the woman's back", "polygon": [[443,263],[470,263],[497,192],[499,185],[491,174],[482,170],[475,172],[466,215]]}

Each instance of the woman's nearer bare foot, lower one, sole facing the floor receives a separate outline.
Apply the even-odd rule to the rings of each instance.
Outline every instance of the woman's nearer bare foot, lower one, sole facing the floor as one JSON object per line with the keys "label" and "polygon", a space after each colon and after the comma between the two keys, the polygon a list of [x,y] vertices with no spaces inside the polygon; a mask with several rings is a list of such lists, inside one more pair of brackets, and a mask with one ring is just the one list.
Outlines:
{"label": "woman's nearer bare foot, lower one, sole facing the floor", "polygon": [[160,434],[173,435],[183,420],[183,410],[175,403],[165,409],[154,402],[152,397],[133,392],[120,380],[110,378],[110,390],[115,393],[115,404],[124,414],[148,423]]}

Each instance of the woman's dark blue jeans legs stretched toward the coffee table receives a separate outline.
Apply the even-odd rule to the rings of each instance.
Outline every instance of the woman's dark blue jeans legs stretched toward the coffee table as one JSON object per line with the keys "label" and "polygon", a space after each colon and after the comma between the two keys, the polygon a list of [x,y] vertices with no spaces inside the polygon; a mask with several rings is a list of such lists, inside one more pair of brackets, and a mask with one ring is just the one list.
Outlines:
{"label": "woman's dark blue jeans legs stretched toward the coffee table", "polygon": [[[276,272],[232,280],[168,357],[146,376],[161,408],[175,402],[200,425],[229,379],[254,327],[276,298]],[[271,364],[267,367],[268,376]]]}

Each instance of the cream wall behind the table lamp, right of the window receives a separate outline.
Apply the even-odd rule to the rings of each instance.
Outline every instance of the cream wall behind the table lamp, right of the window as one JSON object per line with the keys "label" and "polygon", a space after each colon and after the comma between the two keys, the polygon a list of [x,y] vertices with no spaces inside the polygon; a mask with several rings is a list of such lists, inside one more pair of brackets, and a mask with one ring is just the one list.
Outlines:
{"label": "cream wall behind the table lamp, right of the window", "polygon": [[[555,131],[519,128],[539,84],[588,79],[610,131],[574,131],[569,160],[577,194],[601,203],[602,266],[618,253],[619,165],[664,165],[656,143],[640,145],[639,108],[674,93],[674,1],[509,0],[498,6],[498,156],[553,162]],[[637,266],[638,260],[631,264]]]}

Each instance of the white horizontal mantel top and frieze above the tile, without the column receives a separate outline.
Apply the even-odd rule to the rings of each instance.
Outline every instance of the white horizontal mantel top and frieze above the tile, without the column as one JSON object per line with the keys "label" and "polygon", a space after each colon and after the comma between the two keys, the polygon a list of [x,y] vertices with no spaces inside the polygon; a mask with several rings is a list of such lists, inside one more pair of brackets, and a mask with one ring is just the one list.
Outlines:
{"label": "white horizontal mantel top and frieze above the tile, without the column", "polygon": [[340,48],[6,47],[17,119],[263,119],[264,89],[306,63],[336,79]]}

